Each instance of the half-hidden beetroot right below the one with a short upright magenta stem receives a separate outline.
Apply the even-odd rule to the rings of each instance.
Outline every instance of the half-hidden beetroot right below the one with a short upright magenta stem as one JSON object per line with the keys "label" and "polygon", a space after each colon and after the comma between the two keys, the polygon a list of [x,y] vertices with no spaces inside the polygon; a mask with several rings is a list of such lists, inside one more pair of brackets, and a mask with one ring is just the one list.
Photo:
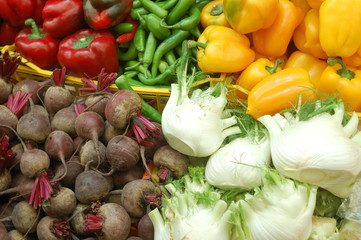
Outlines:
{"label": "half-hidden beetroot right below the one with a short upright magenta stem", "polygon": [[51,120],[51,128],[53,130],[62,130],[74,138],[77,136],[75,131],[76,117],[74,105],[60,109]]}

